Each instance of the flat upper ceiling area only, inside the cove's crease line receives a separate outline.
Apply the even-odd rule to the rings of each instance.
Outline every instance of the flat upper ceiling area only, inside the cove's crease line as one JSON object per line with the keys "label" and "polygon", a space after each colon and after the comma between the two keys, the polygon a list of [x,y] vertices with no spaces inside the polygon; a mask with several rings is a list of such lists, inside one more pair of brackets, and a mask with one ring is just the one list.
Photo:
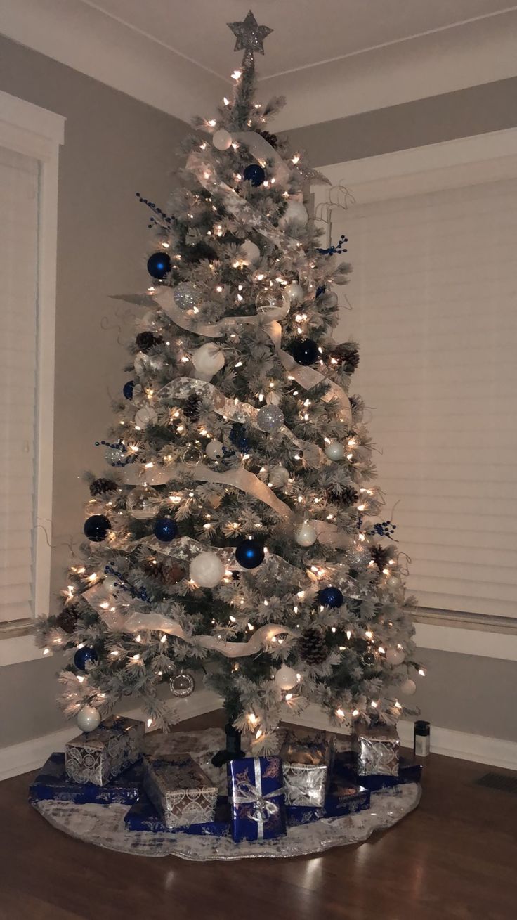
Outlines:
{"label": "flat upper ceiling area only, inside the cove's crease line", "polygon": [[82,0],[227,77],[241,54],[226,23],[251,4],[273,32],[259,75],[285,74],[507,10],[505,0]]}

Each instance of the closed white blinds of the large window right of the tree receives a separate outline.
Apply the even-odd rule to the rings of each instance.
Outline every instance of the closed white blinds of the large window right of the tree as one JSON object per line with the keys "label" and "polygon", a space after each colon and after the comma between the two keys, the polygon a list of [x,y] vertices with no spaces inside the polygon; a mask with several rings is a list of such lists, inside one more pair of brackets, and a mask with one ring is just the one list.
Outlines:
{"label": "closed white blinds of the large window right of the tree", "polygon": [[340,233],[338,338],[361,346],[351,392],[408,586],[423,607],[517,617],[517,179],[355,204]]}

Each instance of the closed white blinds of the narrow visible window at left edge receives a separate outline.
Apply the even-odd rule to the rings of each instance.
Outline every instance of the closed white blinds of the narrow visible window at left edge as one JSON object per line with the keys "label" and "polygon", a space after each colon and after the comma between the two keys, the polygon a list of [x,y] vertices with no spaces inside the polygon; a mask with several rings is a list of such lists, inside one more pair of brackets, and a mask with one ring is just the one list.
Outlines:
{"label": "closed white blinds of the narrow visible window at left edge", "polygon": [[0,147],[0,621],[33,614],[39,163]]}

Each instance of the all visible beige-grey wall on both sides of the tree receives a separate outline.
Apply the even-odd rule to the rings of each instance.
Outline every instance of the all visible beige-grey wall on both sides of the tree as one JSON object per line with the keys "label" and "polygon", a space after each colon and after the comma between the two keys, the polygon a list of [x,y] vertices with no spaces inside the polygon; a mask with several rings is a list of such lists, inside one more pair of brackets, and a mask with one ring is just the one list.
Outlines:
{"label": "all visible beige-grey wall on both sides of the tree", "polygon": [[[0,38],[0,89],[67,118],[61,155],[57,292],[53,591],[67,546],[78,539],[86,489],[80,472],[101,466],[94,442],[109,424],[125,351],[109,293],[146,281],[146,215],[135,191],[165,202],[186,125],[62,64]],[[517,80],[380,109],[291,132],[325,165],[495,131],[517,123]],[[517,663],[424,650],[429,676],[416,702],[443,728],[517,740],[512,696]],[[0,669],[0,747],[63,726],[54,705],[58,662]]]}

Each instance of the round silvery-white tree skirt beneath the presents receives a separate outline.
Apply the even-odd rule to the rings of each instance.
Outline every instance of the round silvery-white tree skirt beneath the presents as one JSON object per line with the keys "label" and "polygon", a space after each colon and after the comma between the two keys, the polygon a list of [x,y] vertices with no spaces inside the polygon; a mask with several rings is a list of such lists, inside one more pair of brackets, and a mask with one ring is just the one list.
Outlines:
{"label": "round silvery-white tree skirt beneath the presents", "polygon": [[[167,753],[171,743],[178,750],[183,739],[185,751],[197,760],[205,772],[225,786],[225,770],[210,763],[214,751],[224,743],[224,733],[218,729],[202,732],[181,732],[166,736],[150,736],[147,750]],[[225,791],[225,789],[224,789]],[[143,857],[176,856],[182,859],[243,859],[260,857],[299,857],[322,853],[332,846],[362,843],[374,831],[392,827],[419,804],[420,787],[408,783],[372,794],[370,808],[339,818],[325,818],[310,824],[288,828],[287,835],[275,840],[242,841],[235,844],[230,837],[209,834],[154,834],[149,831],[129,831],[124,824],[127,805],[75,805],[71,802],[46,800],[35,808],[58,830],[96,846]]]}

